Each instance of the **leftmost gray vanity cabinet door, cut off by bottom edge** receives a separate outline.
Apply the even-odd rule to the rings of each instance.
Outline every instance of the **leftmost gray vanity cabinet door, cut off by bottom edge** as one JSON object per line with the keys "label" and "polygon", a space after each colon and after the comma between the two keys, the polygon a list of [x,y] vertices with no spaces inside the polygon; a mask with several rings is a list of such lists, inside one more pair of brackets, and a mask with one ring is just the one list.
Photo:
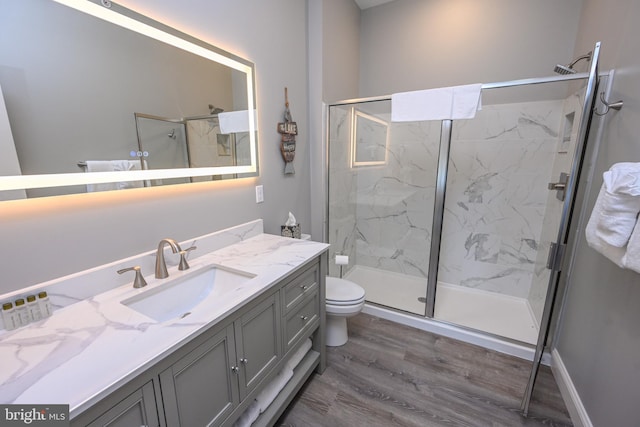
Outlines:
{"label": "leftmost gray vanity cabinet door, cut off by bottom edge", "polygon": [[131,393],[88,425],[88,427],[131,426],[159,426],[153,384],[150,382]]}

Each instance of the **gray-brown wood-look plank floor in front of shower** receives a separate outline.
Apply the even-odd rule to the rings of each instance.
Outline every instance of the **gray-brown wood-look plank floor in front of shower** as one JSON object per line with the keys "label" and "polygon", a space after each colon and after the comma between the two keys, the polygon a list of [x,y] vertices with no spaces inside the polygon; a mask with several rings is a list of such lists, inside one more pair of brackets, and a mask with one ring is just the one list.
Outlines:
{"label": "gray-brown wood-look plank floor in front of shower", "polygon": [[551,370],[520,414],[530,362],[359,314],[279,426],[571,426]]}

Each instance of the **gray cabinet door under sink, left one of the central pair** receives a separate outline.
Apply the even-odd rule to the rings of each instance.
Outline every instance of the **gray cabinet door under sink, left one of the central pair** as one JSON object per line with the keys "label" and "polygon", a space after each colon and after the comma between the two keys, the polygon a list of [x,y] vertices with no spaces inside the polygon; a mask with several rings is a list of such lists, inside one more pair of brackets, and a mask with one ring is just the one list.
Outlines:
{"label": "gray cabinet door under sink, left one of the central pair", "polygon": [[168,426],[217,426],[239,402],[233,326],[160,374]]}

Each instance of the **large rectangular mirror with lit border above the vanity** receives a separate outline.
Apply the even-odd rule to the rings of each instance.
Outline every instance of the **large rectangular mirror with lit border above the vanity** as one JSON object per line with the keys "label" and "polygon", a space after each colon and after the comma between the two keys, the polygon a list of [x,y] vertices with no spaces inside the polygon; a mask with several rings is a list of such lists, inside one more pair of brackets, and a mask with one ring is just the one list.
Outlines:
{"label": "large rectangular mirror with lit border above the vanity", "polygon": [[255,176],[254,82],[113,2],[5,1],[0,200]]}

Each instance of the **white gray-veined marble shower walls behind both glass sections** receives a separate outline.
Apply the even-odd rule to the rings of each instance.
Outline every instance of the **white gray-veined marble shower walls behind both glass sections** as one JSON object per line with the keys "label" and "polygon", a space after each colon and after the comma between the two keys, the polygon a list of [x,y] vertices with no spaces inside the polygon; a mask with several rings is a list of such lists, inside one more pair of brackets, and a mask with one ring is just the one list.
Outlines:
{"label": "white gray-veined marble shower walls behind both glass sections", "polygon": [[[571,151],[559,138],[568,104],[489,105],[454,123],[440,282],[529,298],[540,311],[550,241],[543,224],[557,233],[547,183],[558,151]],[[331,256],[349,255],[345,272],[357,264],[426,279],[441,123],[391,123],[387,163],[352,168],[351,106],[329,115]],[[339,274],[333,262],[329,272]]]}

